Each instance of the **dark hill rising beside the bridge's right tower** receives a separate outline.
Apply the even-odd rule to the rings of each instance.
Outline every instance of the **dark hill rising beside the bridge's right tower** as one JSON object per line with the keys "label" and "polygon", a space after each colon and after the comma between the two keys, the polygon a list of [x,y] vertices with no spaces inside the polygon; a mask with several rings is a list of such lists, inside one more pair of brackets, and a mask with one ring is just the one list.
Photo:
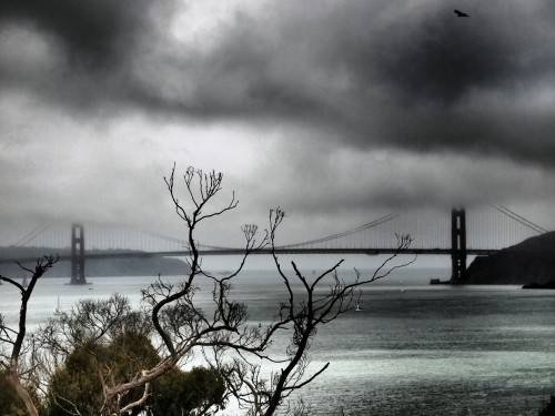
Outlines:
{"label": "dark hill rising beside the bridge's right tower", "polygon": [[555,232],[527,239],[501,252],[477,256],[466,271],[468,284],[546,284],[555,281]]}

